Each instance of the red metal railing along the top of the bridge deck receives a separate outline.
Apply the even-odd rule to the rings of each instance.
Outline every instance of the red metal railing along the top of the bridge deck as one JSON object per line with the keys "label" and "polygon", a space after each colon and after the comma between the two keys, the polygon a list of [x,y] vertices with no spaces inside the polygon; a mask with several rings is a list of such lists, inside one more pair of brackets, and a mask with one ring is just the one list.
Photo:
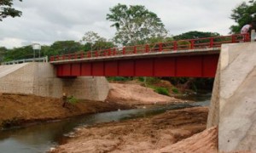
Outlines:
{"label": "red metal railing along the top of the bridge deck", "polygon": [[236,34],[221,37],[204,37],[197,39],[187,39],[172,42],[150,43],[137,46],[126,46],[123,48],[108,48],[102,50],[88,51],[86,53],[62,54],[50,57],[50,61],[60,61],[68,59],[91,59],[119,55],[150,54],[156,52],[189,50],[199,48],[218,48],[224,43],[249,42],[249,34]]}

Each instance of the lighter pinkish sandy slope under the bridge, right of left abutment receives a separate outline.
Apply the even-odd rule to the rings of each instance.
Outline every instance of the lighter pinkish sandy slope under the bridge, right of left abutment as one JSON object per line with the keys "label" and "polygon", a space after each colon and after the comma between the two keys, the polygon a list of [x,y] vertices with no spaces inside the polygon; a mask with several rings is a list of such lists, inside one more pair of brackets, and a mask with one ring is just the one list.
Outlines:
{"label": "lighter pinkish sandy slope under the bridge, right of left abutment", "polygon": [[157,94],[152,88],[145,88],[138,84],[109,83],[110,91],[107,101],[124,105],[154,105],[183,102],[166,95]]}

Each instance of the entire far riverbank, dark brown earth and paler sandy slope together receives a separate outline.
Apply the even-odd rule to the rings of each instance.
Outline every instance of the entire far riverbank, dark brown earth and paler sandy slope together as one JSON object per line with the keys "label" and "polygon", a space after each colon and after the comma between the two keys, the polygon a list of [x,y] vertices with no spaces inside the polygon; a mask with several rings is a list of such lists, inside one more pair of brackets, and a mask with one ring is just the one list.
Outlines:
{"label": "entire far riverbank, dark brown earth and paler sandy slope together", "polygon": [[154,93],[137,84],[110,83],[112,87],[104,102],[79,100],[62,107],[63,100],[28,94],[0,94],[0,129],[58,120],[104,111],[127,110],[137,105],[182,102],[183,100]]}

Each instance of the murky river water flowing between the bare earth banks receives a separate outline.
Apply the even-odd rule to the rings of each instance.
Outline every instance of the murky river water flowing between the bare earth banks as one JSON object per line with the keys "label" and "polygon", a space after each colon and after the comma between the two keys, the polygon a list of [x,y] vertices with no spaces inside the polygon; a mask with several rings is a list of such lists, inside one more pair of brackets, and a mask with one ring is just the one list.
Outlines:
{"label": "murky river water flowing between the bare earth banks", "polygon": [[195,103],[178,105],[154,105],[143,109],[111,111],[94,115],[77,116],[58,122],[44,122],[29,127],[20,127],[0,131],[0,153],[35,153],[45,152],[65,139],[67,133],[75,127],[93,125],[100,122],[118,122],[125,119],[153,116],[168,110],[209,105],[211,94],[187,97]]}

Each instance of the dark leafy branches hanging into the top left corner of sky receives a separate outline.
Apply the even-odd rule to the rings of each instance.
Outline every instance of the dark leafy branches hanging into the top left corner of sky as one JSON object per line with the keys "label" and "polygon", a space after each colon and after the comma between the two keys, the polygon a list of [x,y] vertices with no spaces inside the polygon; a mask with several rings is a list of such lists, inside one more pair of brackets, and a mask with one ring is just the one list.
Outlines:
{"label": "dark leafy branches hanging into the top left corner of sky", "polygon": [[[22,2],[22,0],[19,0]],[[21,12],[19,10],[16,10],[15,8],[12,8],[13,0],[1,0],[0,1],[0,21],[3,20],[3,18],[6,18],[8,16],[11,16],[15,18],[16,16],[21,16]]]}

